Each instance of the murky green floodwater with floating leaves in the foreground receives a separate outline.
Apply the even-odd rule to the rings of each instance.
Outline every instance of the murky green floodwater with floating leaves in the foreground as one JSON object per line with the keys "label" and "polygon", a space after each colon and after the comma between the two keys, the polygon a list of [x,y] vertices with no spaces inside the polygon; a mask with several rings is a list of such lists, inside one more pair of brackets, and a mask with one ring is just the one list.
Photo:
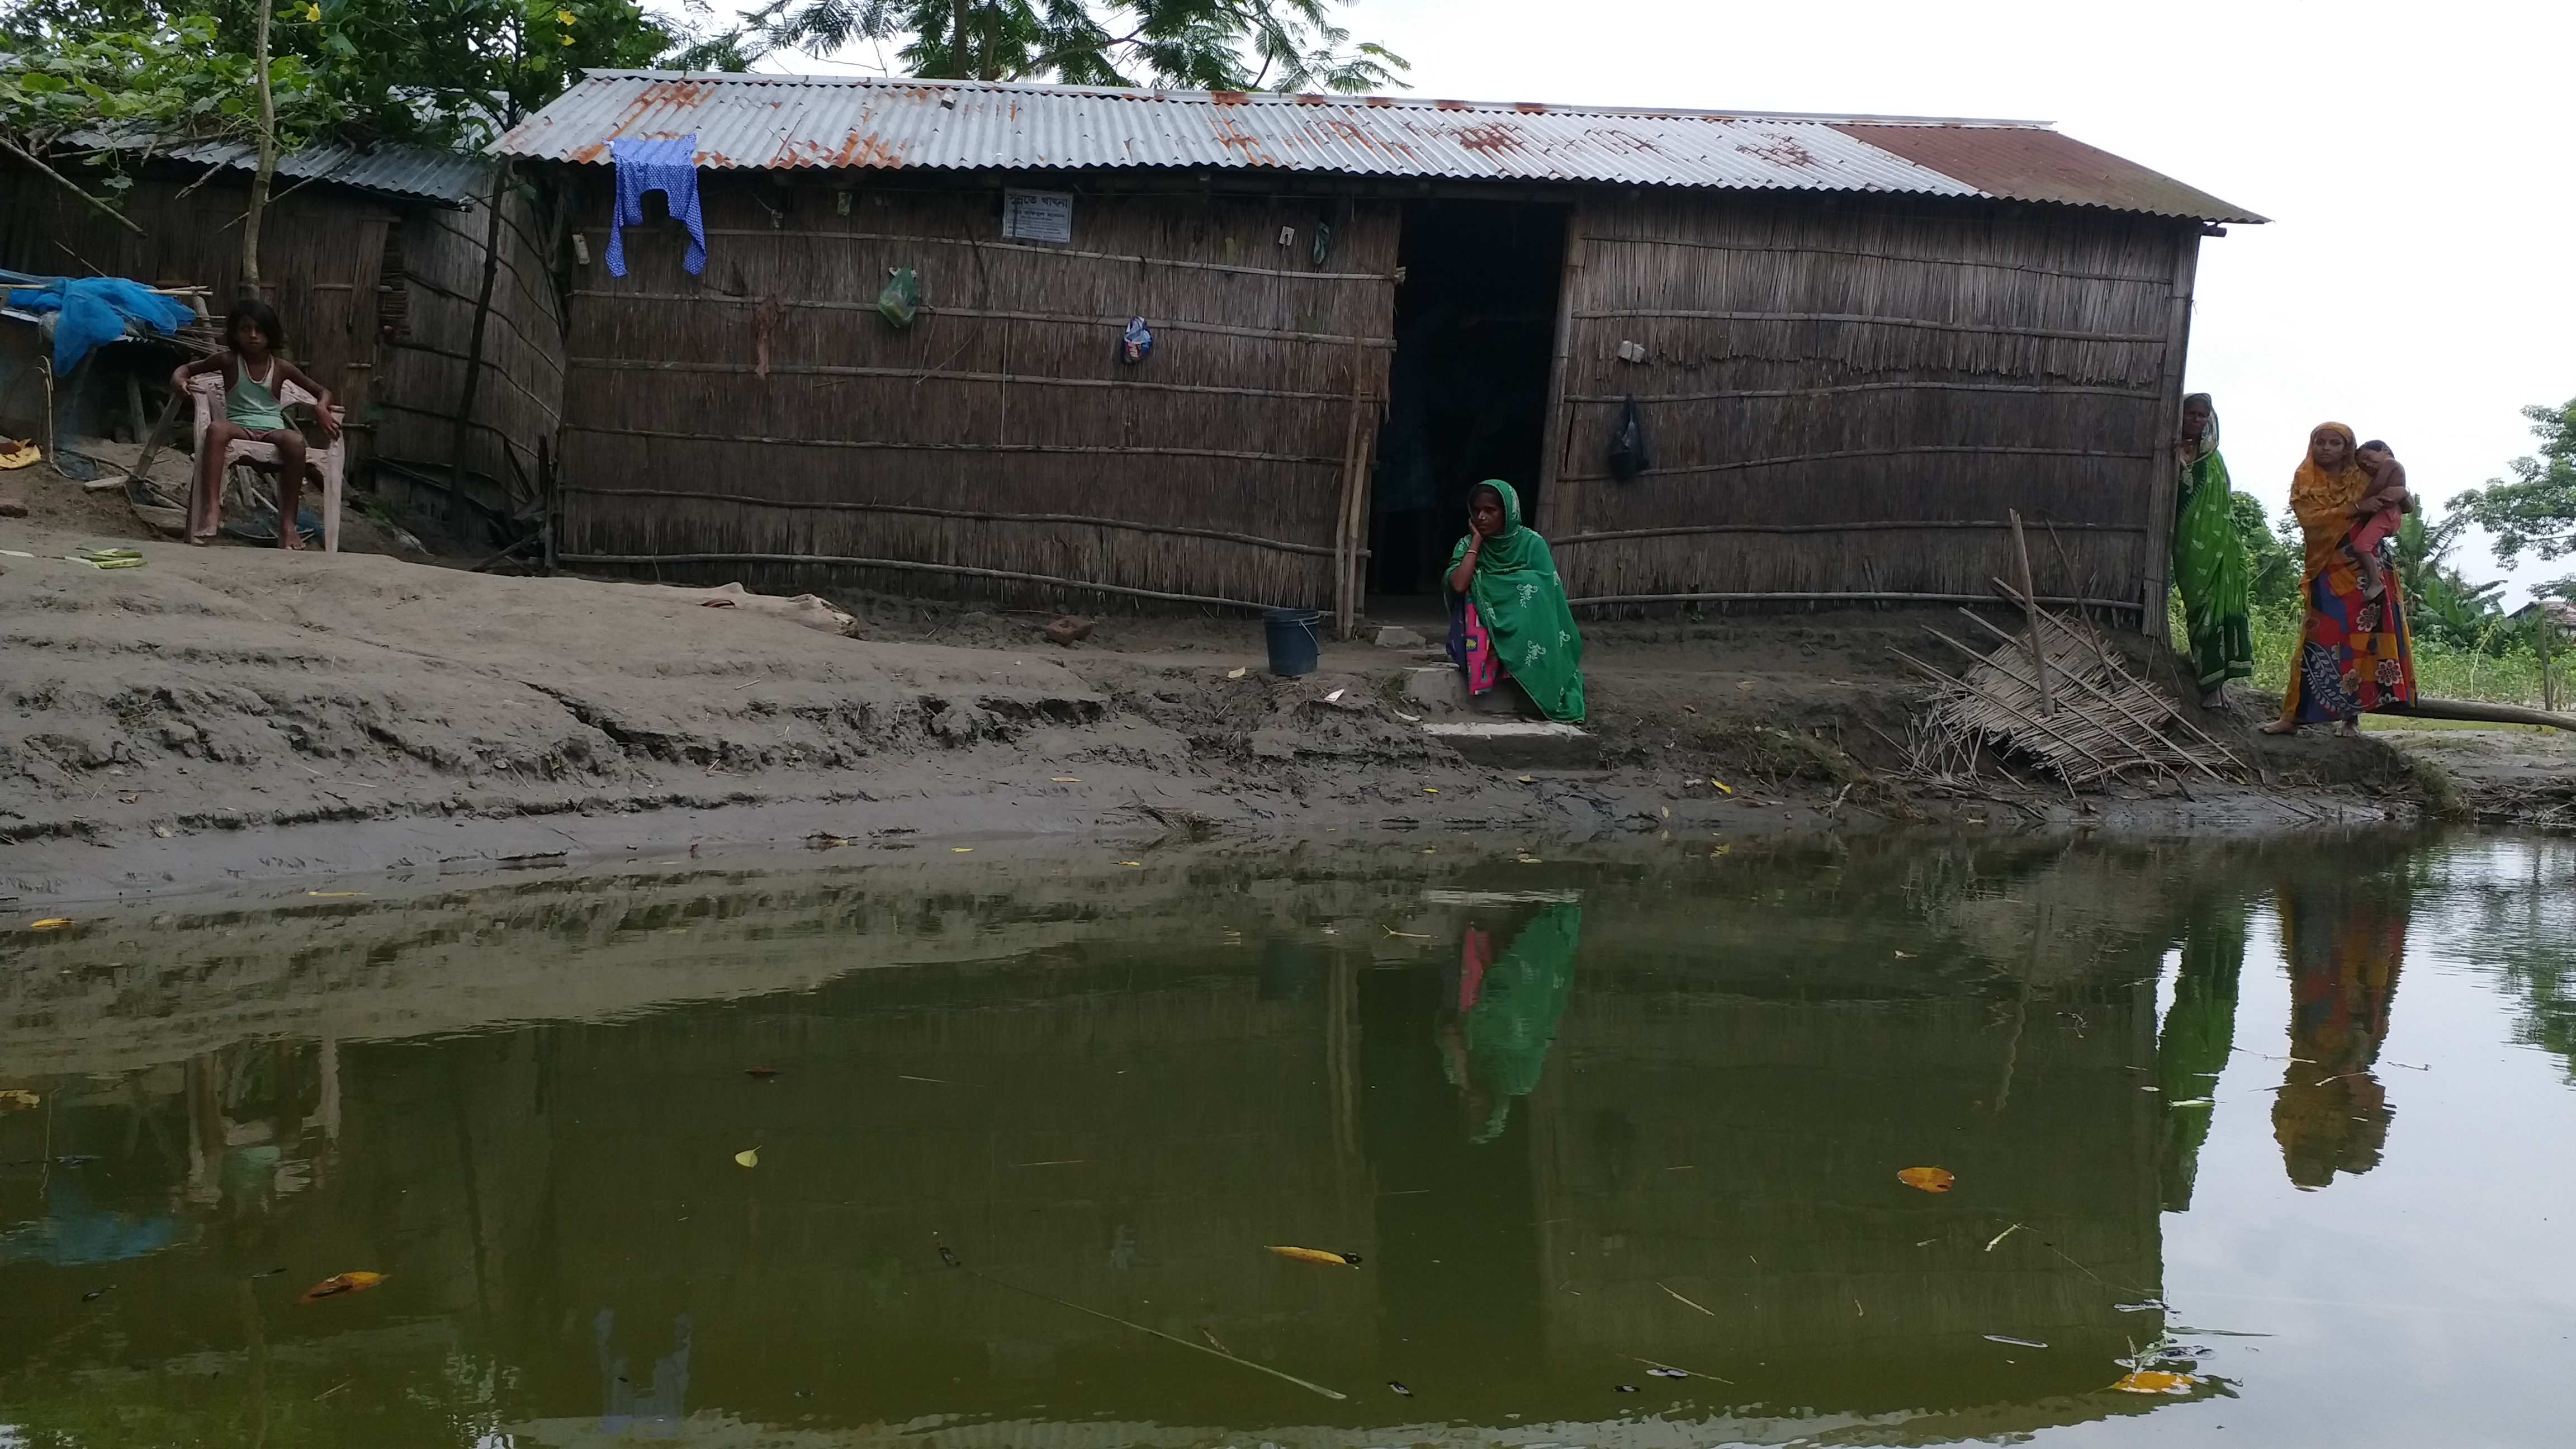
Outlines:
{"label": "murky green floodwater with floating leaves in the foreground", "polygon": [[10,920],[0,1446],[2563,1439],[2576,843],[1659,851]]}

